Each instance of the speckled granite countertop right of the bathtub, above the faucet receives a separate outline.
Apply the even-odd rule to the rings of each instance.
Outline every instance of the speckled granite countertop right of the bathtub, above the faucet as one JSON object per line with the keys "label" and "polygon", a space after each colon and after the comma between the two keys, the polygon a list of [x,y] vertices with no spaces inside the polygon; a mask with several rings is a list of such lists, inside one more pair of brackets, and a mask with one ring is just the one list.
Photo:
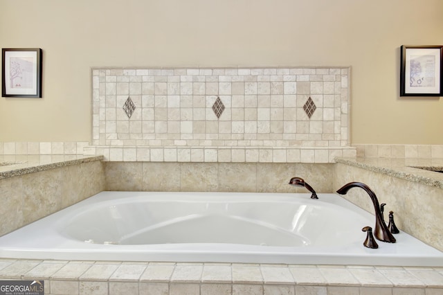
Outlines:
{"label": "speckled granite countertop right of the bathtub, above the faucet", "polygon": [[336,158],[336,163],[379,172],[384,175],[443,188],[443,159]]}

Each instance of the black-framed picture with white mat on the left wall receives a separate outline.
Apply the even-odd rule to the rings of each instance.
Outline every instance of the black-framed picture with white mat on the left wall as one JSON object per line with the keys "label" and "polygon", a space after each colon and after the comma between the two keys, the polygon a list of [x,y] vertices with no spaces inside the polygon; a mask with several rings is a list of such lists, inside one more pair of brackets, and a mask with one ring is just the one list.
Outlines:
{"label": "black-framed picture with white mat on the left wall", "polygon": [[42,98],[42,49],[1,49],[1,96]]}

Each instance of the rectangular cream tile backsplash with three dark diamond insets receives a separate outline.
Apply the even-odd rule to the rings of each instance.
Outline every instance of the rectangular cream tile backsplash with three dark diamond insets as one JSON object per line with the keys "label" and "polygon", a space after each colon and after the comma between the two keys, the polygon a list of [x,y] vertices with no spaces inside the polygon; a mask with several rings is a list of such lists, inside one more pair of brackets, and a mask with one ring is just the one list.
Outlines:
{"label": "rectangular cream tile backsplash with three dark diamond insets", "polygon": [[[354,151],[349,80],[347,67],[93,69],[88,152],[103,152],[111,161],[168,161],[169,152],[171,161],[180,161],[183,153],[186,161],[193,153],[203,155],[198,161],[206,161],[205,155],[220,161],[228,153],[223,161],[233,161],[251,147],[257,150],[253,161],[268,148],[266,161],[289,161],[289,150],[300,161],[309,150],[307,161],[315,163],[321,150],[320,162],[329,162],[343,150]],[[125,153],[132,155],[126,160]],[[275,156],[281,153],[284,157]],[[239,161],[247,161],[240,154]]]}

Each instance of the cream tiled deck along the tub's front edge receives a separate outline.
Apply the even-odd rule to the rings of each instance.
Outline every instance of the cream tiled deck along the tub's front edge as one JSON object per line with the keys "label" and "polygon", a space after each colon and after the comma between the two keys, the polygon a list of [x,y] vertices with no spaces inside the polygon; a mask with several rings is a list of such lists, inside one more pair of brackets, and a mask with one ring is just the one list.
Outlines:
{"label": "cream tiled deck along the tub's front edge", "polygon": [[45,294],[443,294],[443,267],[0,259],[0,280]]}

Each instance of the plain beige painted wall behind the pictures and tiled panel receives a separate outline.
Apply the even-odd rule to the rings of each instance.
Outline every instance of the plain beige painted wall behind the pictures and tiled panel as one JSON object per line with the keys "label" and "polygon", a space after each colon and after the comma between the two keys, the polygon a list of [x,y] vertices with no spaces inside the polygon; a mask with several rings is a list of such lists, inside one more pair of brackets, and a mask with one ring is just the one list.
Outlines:
{"label": "plain beige painted wall behind the pictures and tiled panel", "polygon": [[443,101],[399,98],[399,46],[443,44],[443,1],[2,0],[0,46],[44,51],[43,98],[0,141],[89,141],[91,66],[352,66],[352,143],[443,144]]}

